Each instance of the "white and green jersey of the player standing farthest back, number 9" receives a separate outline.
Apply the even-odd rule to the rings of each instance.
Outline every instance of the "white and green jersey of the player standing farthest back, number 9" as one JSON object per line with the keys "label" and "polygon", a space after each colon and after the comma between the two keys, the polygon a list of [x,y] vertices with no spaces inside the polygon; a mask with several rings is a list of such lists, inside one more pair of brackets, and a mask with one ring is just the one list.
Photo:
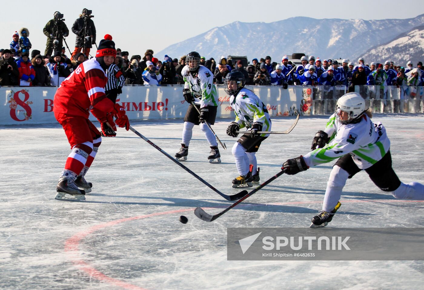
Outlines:
{"label": "white and green jersey of the player standing farthest back, number 9", "polygon": [[199,66],[198,72],[193,77],[186,65],[181,70],[184,78],[184,89],[190,89],[194,97],[194,103],[201,108],[208,105],[218,106],[218,92],[213,83],[213,73],[203,65]]}

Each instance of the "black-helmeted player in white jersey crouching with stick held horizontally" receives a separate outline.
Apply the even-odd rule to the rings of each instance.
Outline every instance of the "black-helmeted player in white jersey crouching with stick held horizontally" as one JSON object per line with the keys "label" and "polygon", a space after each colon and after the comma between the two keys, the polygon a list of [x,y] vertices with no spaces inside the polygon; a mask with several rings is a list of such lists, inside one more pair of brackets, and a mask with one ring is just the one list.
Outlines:
{"label": "black-helmeted player in white jersey crouching with stick held horizontally", "polygon": [[224,81],[224,90],[230,95],[230,105],[236,118],[227,128],[227,135],[237,137],[240,128],[250,128],[235,142],[232,153],[236,159],[239,177],[233,179],[234,188],[252,187],[259,183],[259,168],[255,153],[269,134],[257,134],[257,131],[271,130],[268,110],[261,100],[249,89],[244,89],[245,78],[240,72],[229,73]]}

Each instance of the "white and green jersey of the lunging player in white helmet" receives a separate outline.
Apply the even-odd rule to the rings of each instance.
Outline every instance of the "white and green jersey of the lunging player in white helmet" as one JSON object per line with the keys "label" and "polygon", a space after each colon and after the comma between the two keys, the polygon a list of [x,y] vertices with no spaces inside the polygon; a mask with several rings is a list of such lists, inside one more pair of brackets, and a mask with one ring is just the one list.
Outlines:
{"label": "white and green jersey of the lunging player in white helmet", "polygon": [[324,131],[331,136],[329,143],[304,156],[310,167],[350,154],[358,168],[366,169],[382,159],[390,148],[384,126],[380,122],[374,124],[366,114],[355,124],[339,123],[332,114]]}

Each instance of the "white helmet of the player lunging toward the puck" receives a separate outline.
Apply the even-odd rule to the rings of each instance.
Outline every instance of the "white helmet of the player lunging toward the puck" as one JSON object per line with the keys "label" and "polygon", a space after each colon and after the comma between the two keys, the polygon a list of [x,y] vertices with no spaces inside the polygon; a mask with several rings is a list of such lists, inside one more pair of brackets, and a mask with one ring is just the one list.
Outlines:
{"label": "white helmet of the player lunging toward the puck", "polygon": [[[339,111],[349,113],[347,120],[341,120]],[[359,118],[365,112],[365,100],[357,92],[350,92],[337,100],[336,117],[340,123],[347,124]]]}

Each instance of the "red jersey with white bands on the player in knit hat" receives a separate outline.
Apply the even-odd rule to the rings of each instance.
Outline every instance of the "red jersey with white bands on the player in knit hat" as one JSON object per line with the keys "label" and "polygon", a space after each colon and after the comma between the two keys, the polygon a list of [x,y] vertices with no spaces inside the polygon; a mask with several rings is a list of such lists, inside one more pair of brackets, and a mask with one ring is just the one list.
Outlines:
{"label": "red jersey with white bands on the player in knit hat", "polygon": [[53,112],[83,116],[89,111],[101,118],[114,109],[114,103],[106,98],[107,77],[95,58],[80,64],[59,86],[54,95]]}

